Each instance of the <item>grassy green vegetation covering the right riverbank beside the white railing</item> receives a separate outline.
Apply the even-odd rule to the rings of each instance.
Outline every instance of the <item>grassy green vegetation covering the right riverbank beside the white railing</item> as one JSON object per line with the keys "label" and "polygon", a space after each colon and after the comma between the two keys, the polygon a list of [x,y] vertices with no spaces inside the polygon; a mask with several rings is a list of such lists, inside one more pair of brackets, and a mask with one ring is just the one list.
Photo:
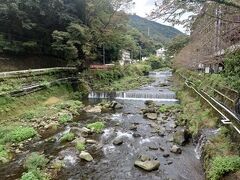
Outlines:
{"label": "grassy green vegetation covering the right riverbank beside the white railing", "polygon": [[[214,83],[219,82],[214,77],[202,78],[203,83],[199,83],[199,87],[204,89],[219,86],[218,83]],[[222,126],[219,121],[220,117],[214,110],[209,109],[206,104],[200,101],[200,98],[195,97],[193,92],[188,91],[184,85],[180,84],[181,80],[178,77],[175,78],[178,98],[181,100],[181,106],[178,106],[181,112],[178,116],[178,124],[187,126],[194,139],[198,139],[206,129],[219,128],[217,134],[207,140],[201,155],[207,179],[239,178],[240,146],[238,135],[235,134],[234,130]],[[221,82],[224,81],[221,80]]]}

